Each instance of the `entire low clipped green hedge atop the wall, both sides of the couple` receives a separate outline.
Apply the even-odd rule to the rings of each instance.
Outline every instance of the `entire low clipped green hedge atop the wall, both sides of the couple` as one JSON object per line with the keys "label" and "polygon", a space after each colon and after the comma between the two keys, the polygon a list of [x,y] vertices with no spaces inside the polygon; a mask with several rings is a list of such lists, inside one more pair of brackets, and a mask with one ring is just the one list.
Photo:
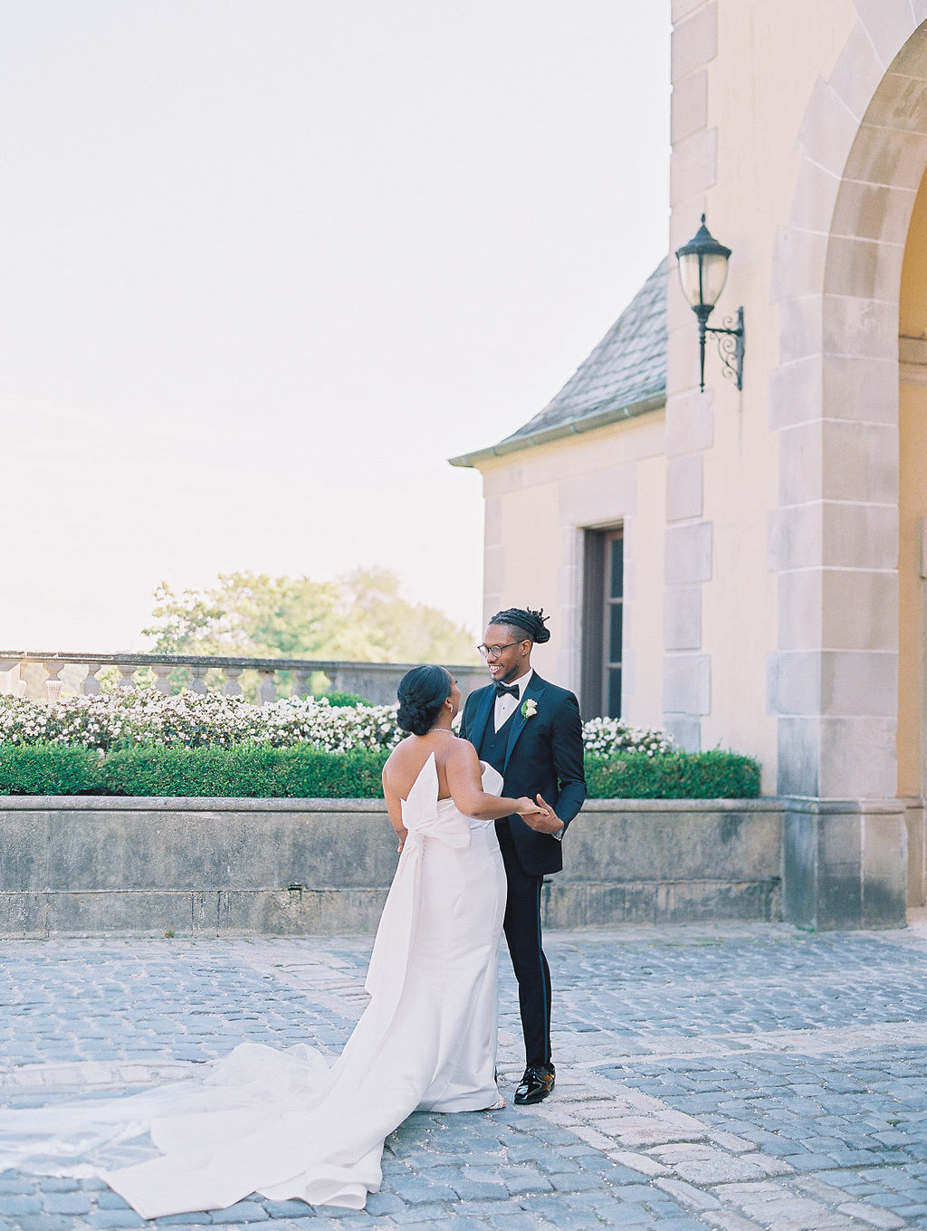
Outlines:
{"label": "entire low clipped green hedge atop the wall, both sides of the couple", "polygon": [[[0,744],[0,795],[207,795],[378,799],[384,751],[185,748],[149,744],[101,760],[78,745]],[[760,767],[734,752],[586,757],[590,799],[750,799]]]}

